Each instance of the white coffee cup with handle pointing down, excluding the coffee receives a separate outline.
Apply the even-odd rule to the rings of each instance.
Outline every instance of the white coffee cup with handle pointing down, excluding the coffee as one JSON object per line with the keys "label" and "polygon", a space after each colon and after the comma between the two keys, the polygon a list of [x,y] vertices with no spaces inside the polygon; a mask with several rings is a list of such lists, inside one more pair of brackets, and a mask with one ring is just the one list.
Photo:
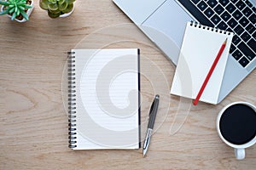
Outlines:
{"label": "white coffee cup with handle pointing down, excluding the coffee", "polygon": [[[220,137],[220,139],[222,139],[224,141],[225,144],[228,144],[230,147],[235,149],[235,156],[237,160],[242,160],[245,158],[245,149],[252,146],[253,144],[256,144],[256,135],[254,136],[253,139],[251,139],[250,141],[248,141],[245,144],[233,144],[230,141],[228,141],[227,139],[224,138],[223,133],[221,133],[221,129],[220,129],[220,120],[222,118],[222,116],[224,115],[224,112],[227,111],[228,108],[230,108],[233,105],[247,105],[250,108],[253,109],[253,111],[256,114],[256,107],[250,103],[247,102],[234,102],[231,103],[230,105],[226,105],[219,113],[218,113],[218,117],[217,117],[217,131],[218,131],[218,135]],[[255,124],[256,127],[256,124]]]}

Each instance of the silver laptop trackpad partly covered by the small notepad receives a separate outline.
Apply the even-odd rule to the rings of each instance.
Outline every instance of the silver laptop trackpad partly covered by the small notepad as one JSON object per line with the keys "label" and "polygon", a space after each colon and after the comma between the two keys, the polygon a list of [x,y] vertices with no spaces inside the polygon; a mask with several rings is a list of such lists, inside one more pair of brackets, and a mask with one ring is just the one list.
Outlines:
{"label": "silver laptop trackpad partly covered by the small notepad", "polygon": [[166,1],[140,28],[177,65],[186,22],[192,20],[174,0]]}

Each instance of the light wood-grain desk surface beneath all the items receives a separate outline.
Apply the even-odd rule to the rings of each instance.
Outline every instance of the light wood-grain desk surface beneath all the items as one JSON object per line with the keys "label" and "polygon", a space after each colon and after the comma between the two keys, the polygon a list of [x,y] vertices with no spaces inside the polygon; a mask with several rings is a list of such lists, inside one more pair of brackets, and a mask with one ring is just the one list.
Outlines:
{"label": "light wood-grain desk surface beneath all the items", "polygon": [[[230,102],[256,104],[256,71],[219,105],[190,107],[190,100],[168,94],[175,67],[136,28],[131,35],[147,42],[132,42],[143,46],[143,73],[155,82],[166,77],[166,82],[154,88],[154,82],[142,77],[142,138],[154,93],[163,96],[148,156],[143,158],[142,149],[67,148],[67,113],[61,93],[65,53],[98,29],[131,23],[111,0],[78,1],[75,5],[66,19],[50,20],[38,2],[24,24],[1,16],[0,169],[255,169],[256,145],[247,149],[245,160],[236,161],[233,149],[218,138],[215,121],[218,111]],[[108,46],[129,48],[130,43]],[[159,75],[152,73],[144,62],[147,59],[159,69]]]}

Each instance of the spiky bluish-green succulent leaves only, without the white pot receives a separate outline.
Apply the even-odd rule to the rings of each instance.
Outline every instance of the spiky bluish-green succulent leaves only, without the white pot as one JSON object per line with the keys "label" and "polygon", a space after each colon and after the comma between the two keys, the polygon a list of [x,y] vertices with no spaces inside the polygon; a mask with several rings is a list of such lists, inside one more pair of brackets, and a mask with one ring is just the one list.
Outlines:
{"label": "spiky bluish-green succulent leaves only, without the white pot", "polygon": [[26,4],[26,0],[2,0],[0,1],[0,4],[6,7],[3,8],[0,15],[10,14],[12,16],[11,20],[15,20],[15,18],[21,14],[23,18],[28,20],[28,15],[26,14],[25,10],[32,8],[32,5]]}

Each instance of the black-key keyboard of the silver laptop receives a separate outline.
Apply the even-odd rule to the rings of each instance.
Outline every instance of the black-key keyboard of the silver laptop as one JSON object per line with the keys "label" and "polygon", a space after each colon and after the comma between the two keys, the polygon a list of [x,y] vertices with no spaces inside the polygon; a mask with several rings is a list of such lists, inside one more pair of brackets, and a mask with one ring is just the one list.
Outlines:
{"label": "black-key keyboard of the silver laptop", "polygon": [[246,67],[256,56],[256,8],[248,0],[178,0],[202,25],[234,32],[230,54]]}

